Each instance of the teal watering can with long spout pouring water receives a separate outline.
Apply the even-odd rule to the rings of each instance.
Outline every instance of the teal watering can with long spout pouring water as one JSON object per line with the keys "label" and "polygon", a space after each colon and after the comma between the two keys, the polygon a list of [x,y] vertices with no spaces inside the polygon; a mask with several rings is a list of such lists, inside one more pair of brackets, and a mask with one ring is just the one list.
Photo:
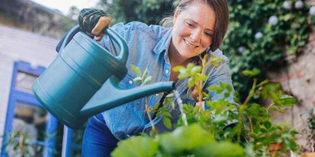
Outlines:
{"label": "teal watering can with long spout pouring water", "polygon": [[[55,60],[32,84],[37,100],[72,129],[81,128],[95,114],[174,89],[171,81],[133,89],[119,87],[118,83],[127,74],[128,47],[115,31],[104,30],[120,48],[117,57],[81,32],[77,25],[66,36]],[[107,92],[97,92],[101,87]]]}

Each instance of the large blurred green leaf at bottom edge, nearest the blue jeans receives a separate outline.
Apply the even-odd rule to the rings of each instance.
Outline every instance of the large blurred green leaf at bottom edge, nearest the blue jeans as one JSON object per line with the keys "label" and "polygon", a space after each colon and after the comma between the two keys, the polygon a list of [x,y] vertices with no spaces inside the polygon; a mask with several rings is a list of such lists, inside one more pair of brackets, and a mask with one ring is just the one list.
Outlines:
{"label": "large blurred green leaf at bottom edge, nearest the blue jeans", "polygon": [[[135,147],[136,146],[136,147]],[[149,137],[136,136],[119,141],[111,156],[151,157],[157,154],[158,143]]]}

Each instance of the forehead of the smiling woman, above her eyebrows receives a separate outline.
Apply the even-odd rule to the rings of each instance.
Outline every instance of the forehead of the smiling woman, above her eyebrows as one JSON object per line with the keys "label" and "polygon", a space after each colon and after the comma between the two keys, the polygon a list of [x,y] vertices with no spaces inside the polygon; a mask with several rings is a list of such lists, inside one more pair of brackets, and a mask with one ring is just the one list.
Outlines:
{"label": "forehead of the smiling woman, above her eyebrows", "polygon": [[181,18],[190,19],[199,25],[205,25],[205,29],[213,30],[215,27],[215,12],[205,2],[193,2],[186,6],[179,14]]}

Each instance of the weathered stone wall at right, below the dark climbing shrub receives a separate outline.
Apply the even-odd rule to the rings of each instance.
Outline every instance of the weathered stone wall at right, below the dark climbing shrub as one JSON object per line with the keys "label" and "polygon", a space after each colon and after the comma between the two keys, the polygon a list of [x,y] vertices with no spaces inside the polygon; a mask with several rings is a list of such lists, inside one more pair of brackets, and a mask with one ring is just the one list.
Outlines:
{"label": "weathered stone wall at right, below the dark climbing shrub", "polygon": [[[274,121],[285,122],[290,127],[302,132],[306,129],[306,109],[315,107],[315,27],[304,46],[303,52],[294,57],[288,57],[289,64],[278,71],[269,72],[271,80],[281,83],[283,91],[298,99],[293,108],[287,108],[286,113],[275,113]],[[265,102],[267,105],[268,100]],[[270,102],[270,101],[269,101]],[[301,116],[301,114],[304,114]],[[305,130],[306,129],[306,130]],[[306,133],[302,133],[298,143],[306,146]]]}

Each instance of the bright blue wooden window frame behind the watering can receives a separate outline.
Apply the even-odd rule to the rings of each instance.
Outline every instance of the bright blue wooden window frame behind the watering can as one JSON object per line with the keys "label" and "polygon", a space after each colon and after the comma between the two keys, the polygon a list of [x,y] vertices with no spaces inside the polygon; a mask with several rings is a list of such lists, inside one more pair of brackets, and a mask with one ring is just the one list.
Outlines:
{"label": "bright blue wooden window frame behind the watering can", "polygon": [[[12,123],[14,120],[14,111],[16,108],[16,104],[18,102],[25,103],[31,106],[43,107],[41,104],[36,100],[35,96],[32,93],[22,91],[15,88],[17,74],[19,72],[27,73],[33,76],[39,76],[45,68],[37,67],[32,68],[29,63],[26,62],[14,62],[14,69],[12,74],[12,81],[10,86],[10,95],[9,95],[9,103],[8,103],[8,110],[6,116],[6,122],[4,126],[4,134],[9,133],[12,130]],[[47,113],[47,120],[46,120],[46,128],[45,133],[48,136],[44,141],[34,141],[35,145],[42,145],[43,149],[43,157],[52,157],[54,156],[54,149],[55,149],[55,136],[57,130],[58,121],[54,116],[52,116],[49,112]],[[18,139],[17,139],[18,140]],[[6,138],[3,138],[3,144],[5,143]],[[5,154],[4,149],[1,150],[1,157],[7,157]]]}

